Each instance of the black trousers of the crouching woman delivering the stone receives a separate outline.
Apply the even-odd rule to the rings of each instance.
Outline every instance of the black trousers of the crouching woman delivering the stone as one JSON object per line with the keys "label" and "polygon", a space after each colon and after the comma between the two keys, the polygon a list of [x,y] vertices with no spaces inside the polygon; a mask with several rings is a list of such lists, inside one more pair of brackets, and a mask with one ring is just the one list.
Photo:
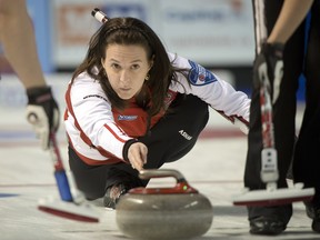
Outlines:
{"label": "black trousers of the crouching woman delivering the stone", "polygon": [[[180,94],[167,113],[147,136],[139,138],[148,147],[148,162],[144,169],[158,169],[166,162],[186,156],[196,144],[209,119],[208,104],[194,96]],[[184,138],[181,130],[190,138]],[[78,188],[88,199],[104,196],[108,187],[124,182],[131,188],[146,187],[149,180],[141,180],[138,171],[124,162],[103,166],[86,164],[69,147],[69,164]]]}

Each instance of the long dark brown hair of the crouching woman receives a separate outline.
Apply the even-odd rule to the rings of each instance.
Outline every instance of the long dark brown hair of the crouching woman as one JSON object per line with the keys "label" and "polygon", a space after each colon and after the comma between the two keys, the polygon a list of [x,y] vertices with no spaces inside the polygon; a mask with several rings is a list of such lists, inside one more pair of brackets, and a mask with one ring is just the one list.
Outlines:
{"label": "long dark brown hair of the crouching woman", "polygon": [[[150,116],[157,114],[164,108],[164,98],[171,81],[177,81],[177,72],[186,76],[183,69],[177,69],[156,32],[143,21],[136,18],[113,18],[103,23],[91,37],[89,49],[82,63],[76,69],[72,81],[81,72],[98,80],[111,104],[118,109],[126,108],[122,100],[111,88],[101,59],[106,59],[106,49],[109,44],[139,44],[147,51],[148,60],[153,60],[149,70],[150,78],[144,81],[142,91],[136,97],[138,104],[144,108]],[[97,68],[97,71],[93,69]]]}

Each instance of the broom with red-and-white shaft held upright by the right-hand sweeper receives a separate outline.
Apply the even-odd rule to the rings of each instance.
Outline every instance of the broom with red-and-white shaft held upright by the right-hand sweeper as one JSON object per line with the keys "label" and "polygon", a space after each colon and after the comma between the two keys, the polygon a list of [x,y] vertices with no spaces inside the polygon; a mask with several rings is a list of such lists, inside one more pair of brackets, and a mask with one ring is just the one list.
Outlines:
{"label": "broom with red-and-white shaft held upright by the right-hand sweeper", "polygon": [[[264,2],[256,1],[256,44],[257,52],[260,52],[262,41],[267,39],[267,29],[264,23]],[[266,68],[267,70],[267,68]],[[299,182],[293,188],[278,189],[277,181],[279,179],[278,157],[274,148],[274,133],[272,120],[272,100],[270,97],[270,82],[266,70],[259,76],[260,87],[260,108],[262,123],[262,141],[263,149],[261,151],[261,180],[266,183],[264,190],[244,189],[240,194],[233,197],[234,206],[278,206],[287,204],[294,201],[310,201],[313,198],[313,188],[303,188],[303,183]],[[281,76],[280,76],[281,77]],[[279,93],[279,91],[278,91]],[[274,91],[274,94],[277,92]],[[273,97],[274,98],[274,97]],[[277,96],[276,96],[277,99]],[[274,99],[273,99],[274,102]]]}

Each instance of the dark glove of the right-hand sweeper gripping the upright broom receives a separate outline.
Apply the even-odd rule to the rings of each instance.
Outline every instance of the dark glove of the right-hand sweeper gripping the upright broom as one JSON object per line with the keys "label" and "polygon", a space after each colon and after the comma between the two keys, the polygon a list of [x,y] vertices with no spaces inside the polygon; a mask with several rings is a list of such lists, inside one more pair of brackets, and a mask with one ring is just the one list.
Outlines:
{"label": "dark glove of the right-hand sweeper gripping the upright broom", "polygon": [[[272,96],[273,103],[279,97],[283,76],[283,48],[282,43],[270,44],[264,42],[253,63],[254,88],[260,88],[261,84],[264,84]],[[271,87],[273,87],[272,90]]]}

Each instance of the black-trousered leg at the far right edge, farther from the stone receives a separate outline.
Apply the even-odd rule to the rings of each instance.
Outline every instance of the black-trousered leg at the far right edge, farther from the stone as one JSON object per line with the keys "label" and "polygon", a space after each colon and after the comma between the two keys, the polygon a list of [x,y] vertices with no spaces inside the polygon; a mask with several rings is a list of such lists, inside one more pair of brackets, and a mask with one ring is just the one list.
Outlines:
{"label": "black-trousered leg at the far right edge, farther from the stone", "polygon": [[293,179],[313,187],[316,196],[307,203],[313,231],[320,232],[320,1],[311,8],[306,56],[306,110],[293,159]]}

